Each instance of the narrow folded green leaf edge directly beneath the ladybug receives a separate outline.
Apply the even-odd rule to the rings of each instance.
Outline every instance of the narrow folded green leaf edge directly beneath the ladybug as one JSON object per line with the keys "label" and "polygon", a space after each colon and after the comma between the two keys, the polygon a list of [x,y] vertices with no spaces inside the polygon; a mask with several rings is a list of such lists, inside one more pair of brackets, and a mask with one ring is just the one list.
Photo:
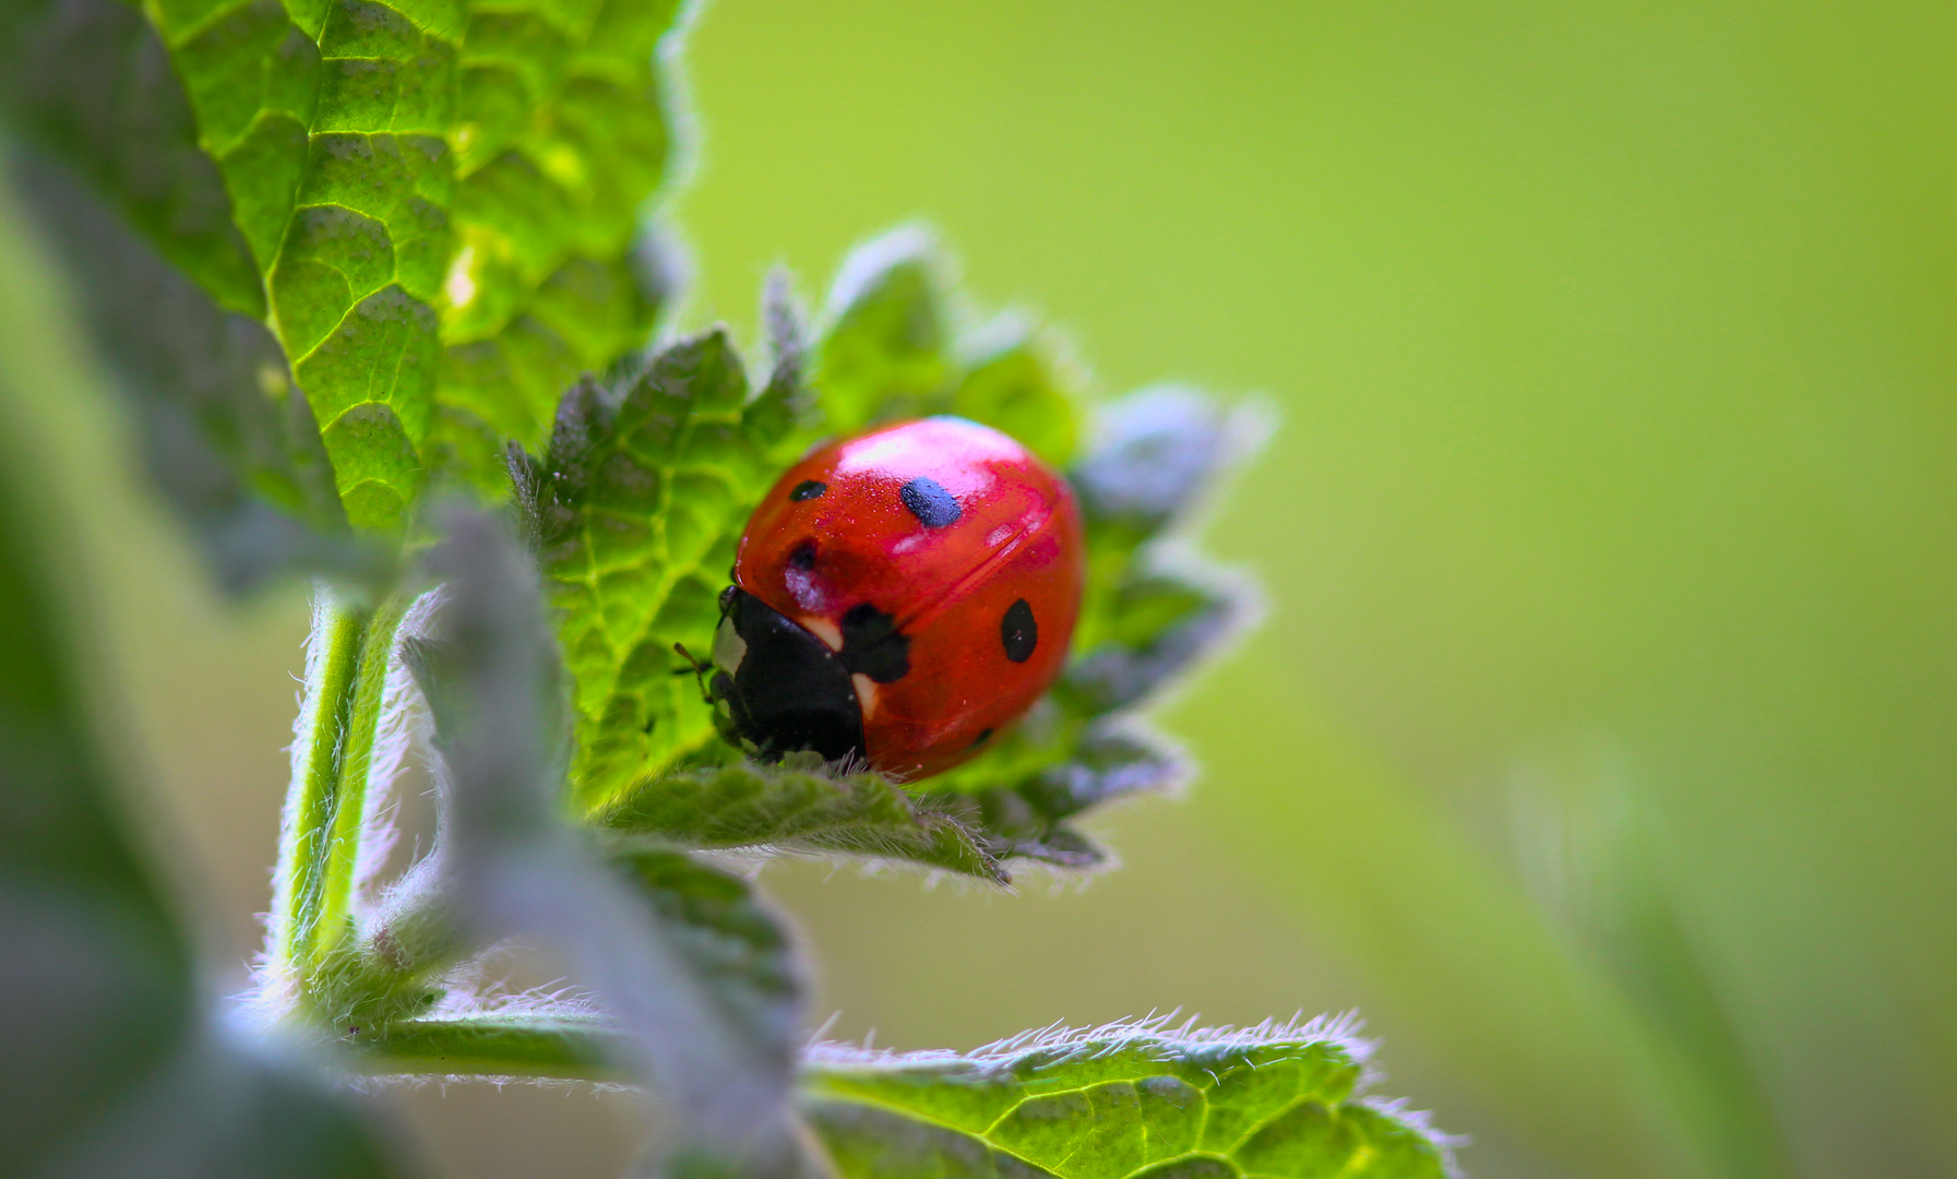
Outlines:
{"label": "narrow folded green leaf edge directly beneath the ladybug", "polygon": [[689,848],[849,852],[1006,883],[998,860],[959,819],[877,774],[830,774],[820,754],[646,778],[595,823]]}

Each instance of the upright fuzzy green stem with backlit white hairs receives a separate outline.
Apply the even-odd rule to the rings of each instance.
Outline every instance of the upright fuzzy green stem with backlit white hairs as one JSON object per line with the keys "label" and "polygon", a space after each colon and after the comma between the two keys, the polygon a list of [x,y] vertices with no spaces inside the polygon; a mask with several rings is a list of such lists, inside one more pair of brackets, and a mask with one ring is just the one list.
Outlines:
{"label": "upright fuzzy green stem with backlit white hairs", "polygon": [[364,605],[329,586],[313,595],[270,928],[272,973],[296,995],[313,991],[323,964],[354,934],[368,770],[403,611],[399,597]]}

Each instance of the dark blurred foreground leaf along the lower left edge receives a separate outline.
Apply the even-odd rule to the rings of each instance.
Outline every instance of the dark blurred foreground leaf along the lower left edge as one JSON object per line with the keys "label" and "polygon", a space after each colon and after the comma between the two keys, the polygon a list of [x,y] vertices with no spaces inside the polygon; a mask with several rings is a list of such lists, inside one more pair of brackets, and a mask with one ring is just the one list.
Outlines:
{"label": "dark blurred foreground leaf along the lower left edge", "polygon": [[393,1173],[294,1061],[207,1022],[76,685],[78,578],[20,411],[51,394],[20,378],[0,356],[0,1173]]}

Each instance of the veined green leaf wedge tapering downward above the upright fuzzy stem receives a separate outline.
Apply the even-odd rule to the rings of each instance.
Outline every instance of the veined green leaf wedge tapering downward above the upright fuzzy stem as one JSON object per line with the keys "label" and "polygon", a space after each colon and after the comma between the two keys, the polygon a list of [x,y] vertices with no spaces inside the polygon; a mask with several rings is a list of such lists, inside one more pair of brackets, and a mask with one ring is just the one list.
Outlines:
{"label": "veined green leaf wedge tapering downward above the upright fuzzy stem", "polygon": [[149,16],[252,245],[346,517],[399,531],[434,413],[460,4],[335,0],[296,24],[270,0],[178,0]]}

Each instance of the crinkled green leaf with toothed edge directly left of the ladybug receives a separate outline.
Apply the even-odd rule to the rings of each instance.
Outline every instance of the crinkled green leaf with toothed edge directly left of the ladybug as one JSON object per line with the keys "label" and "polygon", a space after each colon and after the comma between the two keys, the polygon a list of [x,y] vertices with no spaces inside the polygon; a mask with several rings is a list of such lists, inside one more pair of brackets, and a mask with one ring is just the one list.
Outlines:
{"label": "crinkled green leaf with toothed edge directly left of the ladybug", "polygon": [[577,682],[573,789],[607,805],[712,744],[675,642],[705,648],[753,503],[793,427],[793,384],[748,396],[720,329],[661,351],[618,390],[573,388],[542,460],[513,454]]}

